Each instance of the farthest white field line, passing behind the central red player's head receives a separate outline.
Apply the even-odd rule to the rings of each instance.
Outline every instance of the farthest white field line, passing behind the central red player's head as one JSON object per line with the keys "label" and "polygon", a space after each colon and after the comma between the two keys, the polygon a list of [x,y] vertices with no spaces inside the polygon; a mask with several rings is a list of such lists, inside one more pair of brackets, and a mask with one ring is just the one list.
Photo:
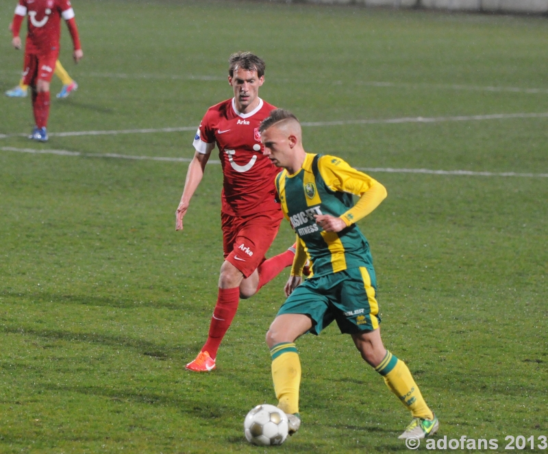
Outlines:
{"label": "farthest white field line, passing behind the central red player's head", "polygon": [[[5,71],[0,70],[1,74],[18,74],[20,71]],[[155,80],[199,80],[199,81],[225,81],[227,76],[220,75],[192,75],[192,74],[125,74],[125,73],[84,73],[79,77],[99,77],[106,79],[155,79]],[[269,78],[269,82],[273,84],[290,84],[295,79],[277,79]],[[464,84],[427,84],[427,83],[412,83],[412,82],[388,82],[388,81],[361,81],[361,80],[331,80],[331,79],[316,79],[310,81],[316,84],[328,85],[362,85],[371,87],[386,87],[386,88],[413,88],[427,90],[437,88],[439,90],[467,90],[467,91],[486,91],[486,92],[513,92],[527,94],[548,94],[548,88],[524,88],[524,87],[505,87],[505,86],[475,86]]]}

